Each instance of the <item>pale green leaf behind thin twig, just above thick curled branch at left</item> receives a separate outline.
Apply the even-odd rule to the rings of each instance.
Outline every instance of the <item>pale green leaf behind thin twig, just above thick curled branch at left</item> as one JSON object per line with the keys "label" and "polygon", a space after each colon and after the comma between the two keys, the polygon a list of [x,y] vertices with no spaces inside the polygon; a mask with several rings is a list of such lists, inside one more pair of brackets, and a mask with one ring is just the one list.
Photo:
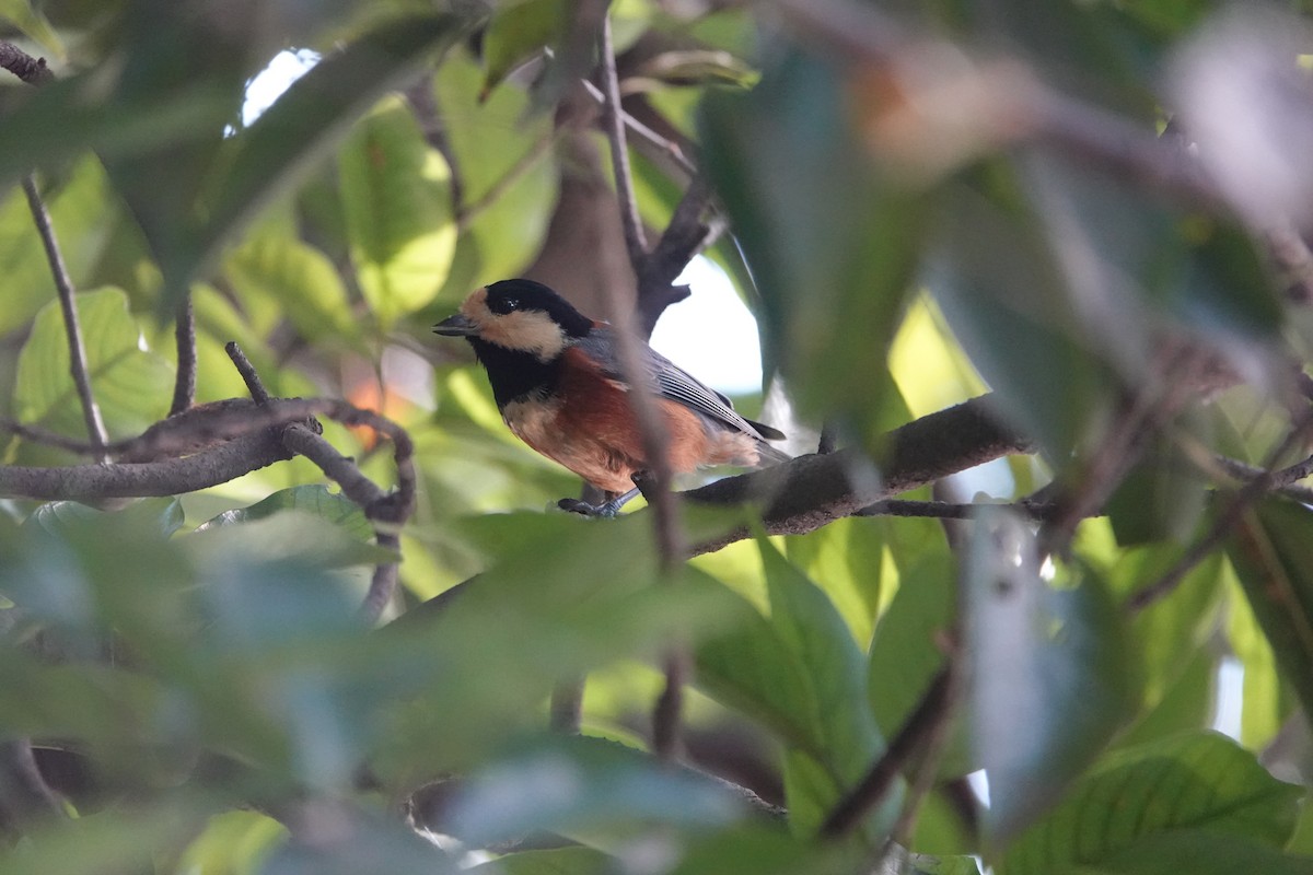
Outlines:
{"label": "pale green leaf behind thin twig, just above thick curled branch at left", "polygon": [[[110,437],[144,432],[168,412],[173,369],[143,349],[142,332],[119,289],[76,296],[92,394]],[[14,408],[20,420],[62,434],[85,436],[81,403],[68,366],[68,340],[58,302],[46,304],[18,358]]]}

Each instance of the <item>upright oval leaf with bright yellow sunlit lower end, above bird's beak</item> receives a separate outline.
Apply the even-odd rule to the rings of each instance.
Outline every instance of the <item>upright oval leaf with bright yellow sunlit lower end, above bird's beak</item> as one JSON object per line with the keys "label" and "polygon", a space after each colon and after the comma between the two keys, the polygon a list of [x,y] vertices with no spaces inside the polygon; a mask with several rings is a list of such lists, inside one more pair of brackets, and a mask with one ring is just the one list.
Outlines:
{"label": "upright oval leaf with bright yellow sunlit lower end, above bird's beak", "polygon": [[337,173],[361,291],[390,325],[432,300],[450,270],[450,169],[406,104],[391,97],[343,144]]}

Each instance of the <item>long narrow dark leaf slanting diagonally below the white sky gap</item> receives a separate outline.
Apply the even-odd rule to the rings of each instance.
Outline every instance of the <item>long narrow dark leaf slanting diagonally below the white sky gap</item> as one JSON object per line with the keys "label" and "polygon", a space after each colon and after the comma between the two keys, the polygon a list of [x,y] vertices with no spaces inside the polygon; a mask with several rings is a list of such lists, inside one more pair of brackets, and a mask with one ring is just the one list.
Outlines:
{"label": "long narrow dark leaf slanting diagonally below the white sky gap", "polygon": [[326,55],[247,130],[231,140],[226,161],[207,188],[196,265],[265,205],[294,189],[390,89],[414,77],[462,33],[448,14],[387,21]]}

